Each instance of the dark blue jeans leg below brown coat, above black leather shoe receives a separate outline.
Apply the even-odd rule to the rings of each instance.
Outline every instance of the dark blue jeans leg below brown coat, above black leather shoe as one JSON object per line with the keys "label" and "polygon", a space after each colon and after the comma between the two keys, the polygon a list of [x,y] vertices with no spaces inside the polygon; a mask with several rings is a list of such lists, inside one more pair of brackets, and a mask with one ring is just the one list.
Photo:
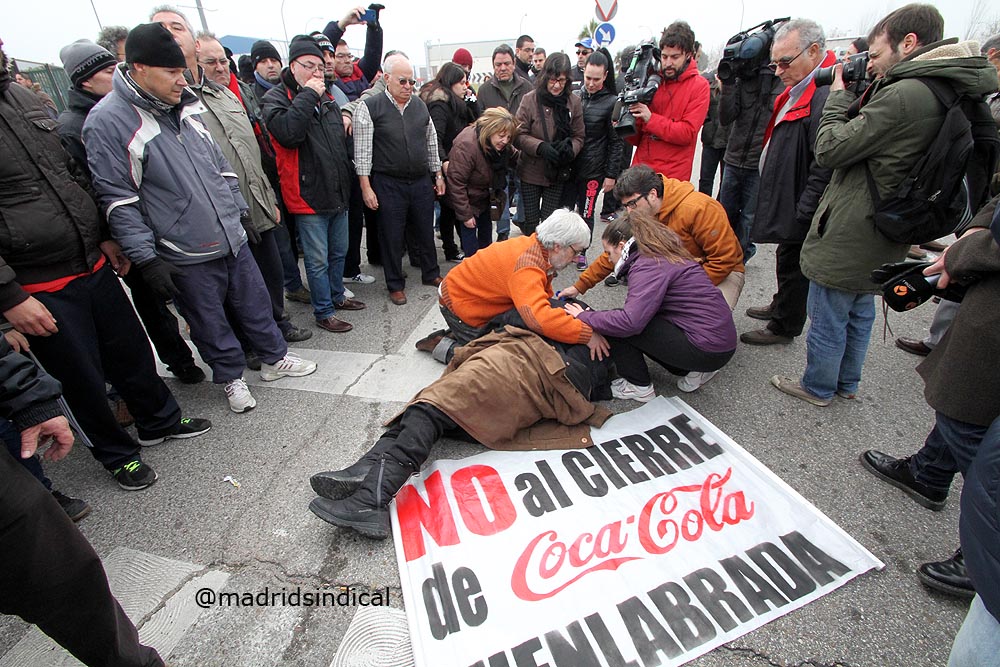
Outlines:
{"label": "dark blue jeans leg below brown coat, above black leather shoe", "polygon": [[924,446],[910,459],[913,478],[921,484],[948,491],[956,472],[964,476],[976,458],[986,426],[952,419],[940,412]]}

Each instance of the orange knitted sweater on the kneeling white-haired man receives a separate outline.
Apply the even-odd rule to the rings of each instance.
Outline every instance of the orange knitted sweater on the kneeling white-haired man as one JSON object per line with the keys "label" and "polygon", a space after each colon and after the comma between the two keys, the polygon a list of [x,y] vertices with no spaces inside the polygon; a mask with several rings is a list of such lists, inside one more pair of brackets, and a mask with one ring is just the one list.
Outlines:
{"label": "orange knitted sweater on the kneeling white-haired man", "polygon": [[517,308],[535,333],[562,343],[586,343],[593,329],[549,305],[555,269],[535,234],[494,243],[448,272],[441,303],[473,327]]}

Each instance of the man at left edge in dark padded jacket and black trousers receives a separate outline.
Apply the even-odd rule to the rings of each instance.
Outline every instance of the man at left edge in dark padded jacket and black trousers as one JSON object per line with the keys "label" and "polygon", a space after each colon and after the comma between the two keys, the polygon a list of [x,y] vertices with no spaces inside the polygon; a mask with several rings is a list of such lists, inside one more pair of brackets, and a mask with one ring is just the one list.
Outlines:
{"label": "man at left edge in dark padded jacket and black trousers", "polygon": [[[0,66],[6,58],[0,51]],[[139,441],[157,444],[207,431],[204,419],[182,419],[156,374],[153,355],[125,291],[108,266],[119,253],[102,250],[107,233],[86,175],[59,137],[38,122],[40,102],[10,85],[0,67],[0,161],[4,227],[0,239],[0,312],[24,334],[94,445],[91,454],[128,491],[157,475],[115,420],[105,398],[110,382],[135,417]],[[25,238],[28,243],[12,243]]]}

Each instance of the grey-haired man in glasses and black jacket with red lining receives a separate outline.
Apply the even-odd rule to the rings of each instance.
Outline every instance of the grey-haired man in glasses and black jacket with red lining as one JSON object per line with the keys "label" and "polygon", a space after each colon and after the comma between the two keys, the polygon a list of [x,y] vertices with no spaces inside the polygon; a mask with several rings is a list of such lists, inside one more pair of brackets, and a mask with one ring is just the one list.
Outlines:
{"label": "grey-haired man in glasses and black jacket with red lining", "polygon": [[764,132],[760,189],[750,238],[777,243],[774,274],[778,290],[771,303],[747,309],[767,326],[740,335],[749,345],[790,343],[806,323],[809,280],[799,255],[816,205],[830,181],[830,170],[816,164],[813,146],[829,87],[816,85],[819,68],[837,62],[825,48],[823,28],[809,19],[782,24],[771,47],[771,66],[787,86],[778,96]]}

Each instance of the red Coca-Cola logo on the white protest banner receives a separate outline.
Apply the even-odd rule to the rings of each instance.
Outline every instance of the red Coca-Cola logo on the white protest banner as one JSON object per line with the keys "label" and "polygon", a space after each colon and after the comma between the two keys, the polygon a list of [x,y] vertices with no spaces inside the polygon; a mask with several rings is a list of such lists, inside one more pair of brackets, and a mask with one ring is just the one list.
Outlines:
{"label": "red Coca-Cola logo on the white protest banner", "polygon": [[709,474],[700,484],[675,486],[649,498],[638,515],[582,532],[572,539],[547,530],[521,552],[510,584],[522,600],[550,598],[588,574],[672,551],[681,541],[696,542],[705,530],[718,532],[754,515],[741,490],[724,487],[732,468]]}

